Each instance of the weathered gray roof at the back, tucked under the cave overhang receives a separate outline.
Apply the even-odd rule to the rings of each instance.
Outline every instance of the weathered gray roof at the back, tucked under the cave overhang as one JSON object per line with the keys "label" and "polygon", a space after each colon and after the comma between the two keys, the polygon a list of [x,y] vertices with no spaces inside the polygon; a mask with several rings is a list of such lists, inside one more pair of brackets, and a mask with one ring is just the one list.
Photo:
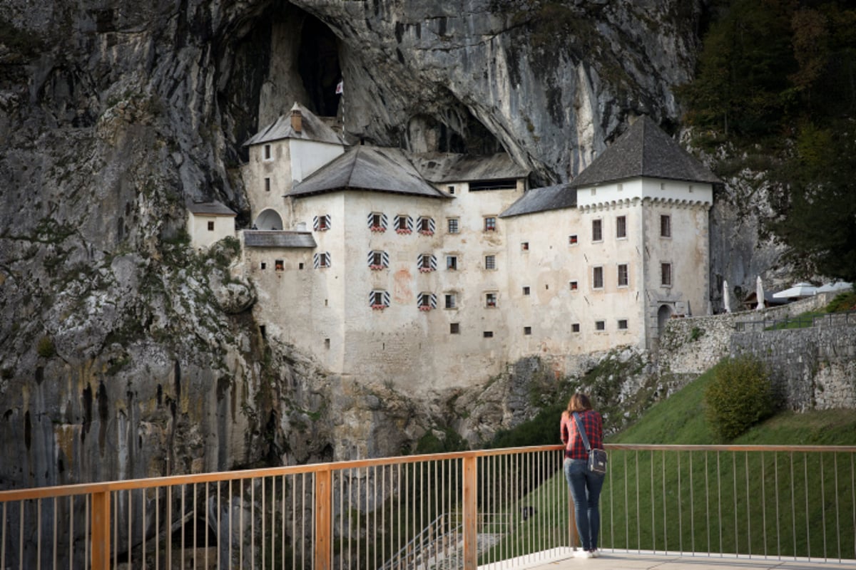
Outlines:
{"label": "weathered gray roof at the back, tucked under the cave overhang", "polygon": [[529,175],[528,169],[505,153],[468,156],[433,152],[414,154],[411,160],[425,179],[435,183],[518,179]]}

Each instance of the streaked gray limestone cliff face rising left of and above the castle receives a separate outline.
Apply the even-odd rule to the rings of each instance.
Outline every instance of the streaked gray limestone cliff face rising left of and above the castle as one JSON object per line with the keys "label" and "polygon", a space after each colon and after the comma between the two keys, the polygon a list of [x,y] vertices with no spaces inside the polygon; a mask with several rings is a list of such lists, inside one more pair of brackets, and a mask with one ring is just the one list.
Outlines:
{"label": "streaked gray limestone cliff face rising left of and above the castle", "polygon": [[[378,407],[266,344],[234,244],[182,240],[186,200],[245,223],[241,143],[294,100],[353,141],[505,148],[568,179],[627,115],[677,120],[701,4],[0,3],[0,488],[412,443],[449,395]],[[461,432],[525,415],[490,405]]]}

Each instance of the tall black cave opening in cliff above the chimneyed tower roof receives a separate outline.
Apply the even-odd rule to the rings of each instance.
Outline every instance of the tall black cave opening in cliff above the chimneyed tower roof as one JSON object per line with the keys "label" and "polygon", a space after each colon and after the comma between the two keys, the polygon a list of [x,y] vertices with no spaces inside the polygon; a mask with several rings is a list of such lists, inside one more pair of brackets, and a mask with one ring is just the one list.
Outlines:
{"label": "tall black cave opening in cliff above the chimneyed tower roof", "polygon": [[306,15],[300,30],[297,69],[309,97],[309,107],[317,115],[336,116],[339,96],[336,85],[342,80],[336,34],[315,16]]}

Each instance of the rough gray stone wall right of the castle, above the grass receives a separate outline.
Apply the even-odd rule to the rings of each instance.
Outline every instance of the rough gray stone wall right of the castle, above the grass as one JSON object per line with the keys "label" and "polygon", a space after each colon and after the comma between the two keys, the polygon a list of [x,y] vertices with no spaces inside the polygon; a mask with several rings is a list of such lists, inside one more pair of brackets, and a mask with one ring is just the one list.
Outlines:
{"label": "rough gray stone wall right of the castle, above the grass", "polygon": [[833,297],[825,293],[760,311],[669,320],[660,338],[658,372],[688,381],[725,356],[751,353],[770,365],[788,408],[856,408],[856,317],[835,317],[804,329],[763,330],[764,322],[769,326],[822,309]]}

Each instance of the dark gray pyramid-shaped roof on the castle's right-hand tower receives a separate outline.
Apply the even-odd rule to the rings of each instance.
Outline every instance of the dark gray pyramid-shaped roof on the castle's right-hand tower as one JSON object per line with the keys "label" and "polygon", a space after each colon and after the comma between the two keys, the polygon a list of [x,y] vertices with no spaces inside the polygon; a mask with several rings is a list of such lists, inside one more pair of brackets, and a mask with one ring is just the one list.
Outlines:
{"label": "dark gray pyramid-shaped roof on the castle's right-hand tower", "polygon": [[572,180],[571,187],[639,176],[710,184],[722,182],[651,118],[642,116]]}

